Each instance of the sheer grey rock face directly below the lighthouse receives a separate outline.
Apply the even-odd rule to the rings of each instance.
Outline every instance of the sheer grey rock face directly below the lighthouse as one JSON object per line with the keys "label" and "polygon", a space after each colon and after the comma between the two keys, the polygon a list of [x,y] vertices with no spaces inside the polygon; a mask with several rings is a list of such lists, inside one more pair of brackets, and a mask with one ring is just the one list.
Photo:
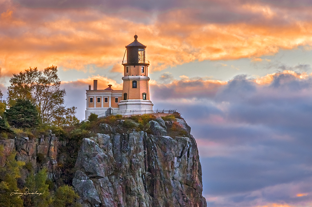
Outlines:
{"label": "sheer grey rock face directly below the lighthouse", "polygon": [[[184,120],[178,123],[190,132]],[[97,134],[83,140],[72,182],[83,206],[207,206],[193,136],[166,136],[163,120],[150,126],[152,134]]]}

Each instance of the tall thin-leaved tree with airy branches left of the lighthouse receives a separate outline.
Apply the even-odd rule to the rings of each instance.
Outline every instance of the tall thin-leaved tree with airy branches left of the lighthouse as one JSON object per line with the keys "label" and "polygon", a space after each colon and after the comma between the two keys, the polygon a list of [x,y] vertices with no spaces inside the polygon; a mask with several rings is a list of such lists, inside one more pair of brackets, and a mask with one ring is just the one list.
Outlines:
{"label": "tall thin-leaved tree with airy branches left of the lighthouse", "polygon": [[60,89],[57,66],[51,65],[43,71],[30,67],[13,74],[10,83],[7,92],[9,106],[13,106],[17,99],[29,100],[38,108],[42,123],[52,123],[56,119],[66,95],[65,89]]}

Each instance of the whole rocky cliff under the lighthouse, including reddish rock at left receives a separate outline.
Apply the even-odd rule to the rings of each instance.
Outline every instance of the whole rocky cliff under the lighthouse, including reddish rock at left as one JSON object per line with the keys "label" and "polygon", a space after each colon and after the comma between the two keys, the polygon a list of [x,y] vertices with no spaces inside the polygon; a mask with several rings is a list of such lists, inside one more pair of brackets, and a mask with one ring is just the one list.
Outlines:
{"label": "whole rocky cliff under the lighthouse, including reddish rock at left", "polygon": [[100,133],[90,129],[85,135],[94,137],[82,140],[58,141],[51,130],[38,139],[0,140],[0,166],[16,150],[18,161],[35,172],[45,167],[55,185],[72,184],[84,207],[207,206],[197,144],[183,119],[157,118],[144,127],[131,119],[97,123]]}

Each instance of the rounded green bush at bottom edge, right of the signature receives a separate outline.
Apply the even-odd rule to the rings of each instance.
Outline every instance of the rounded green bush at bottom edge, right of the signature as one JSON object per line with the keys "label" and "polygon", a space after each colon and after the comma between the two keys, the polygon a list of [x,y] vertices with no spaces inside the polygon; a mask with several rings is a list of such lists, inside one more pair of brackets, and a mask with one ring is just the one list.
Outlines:
{"label": "rounded green bush at bottom edge, right of the signature", "polygon": [[59,187],[54,195],[52,203],[53,207],[80,207],[81,204],[77,202],[79,195],[75,193],[72,186]]}

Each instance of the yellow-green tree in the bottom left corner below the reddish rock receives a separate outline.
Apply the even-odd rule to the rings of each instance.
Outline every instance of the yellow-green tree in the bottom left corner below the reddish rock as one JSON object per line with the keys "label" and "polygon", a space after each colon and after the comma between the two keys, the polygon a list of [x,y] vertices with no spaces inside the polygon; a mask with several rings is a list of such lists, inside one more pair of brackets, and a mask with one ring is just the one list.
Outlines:
{"label": "yellow-green tree in the bottom left corner below the reddish rock", "polygon": [[[4,166],[0,166],[0,206],[22,207],[23,200],[18,194],[11,195],[12,192],[21,193],[17,188],[17,178],[21,177],[22,166],[25,162],[15,160],[16,152],[10,153]],[[0,157],[4,157],[4,147],[0,145]]]}

